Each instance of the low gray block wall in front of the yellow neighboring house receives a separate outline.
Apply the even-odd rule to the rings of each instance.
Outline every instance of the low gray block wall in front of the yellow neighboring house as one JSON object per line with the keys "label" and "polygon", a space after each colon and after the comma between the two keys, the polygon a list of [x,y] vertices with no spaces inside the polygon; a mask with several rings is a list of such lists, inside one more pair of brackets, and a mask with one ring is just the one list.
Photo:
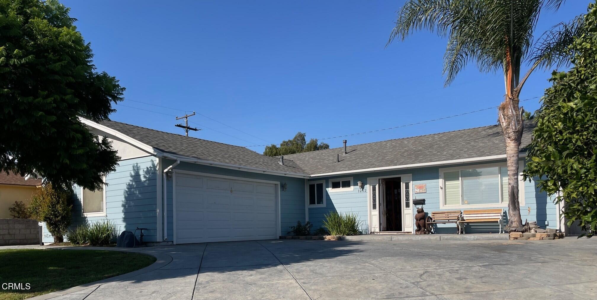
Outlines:
{"label": "low gray block wall in front of the yellow neighboring house", "polygon": [[38,221],[33,219],[0,219],[0,246],[38,244]]}

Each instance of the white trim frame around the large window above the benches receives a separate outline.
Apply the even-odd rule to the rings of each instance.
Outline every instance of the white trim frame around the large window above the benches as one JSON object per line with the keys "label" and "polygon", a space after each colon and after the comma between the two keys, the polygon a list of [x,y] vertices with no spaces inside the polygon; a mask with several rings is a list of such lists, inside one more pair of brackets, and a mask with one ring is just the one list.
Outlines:
{"label": "white trim frame around the large window above the benches", "polygon": [[[494,203],[494,204],[470,204],[470,205],[445,205],[444,200],[444,173],[451,172],[451,171],[460,171],[460,170],[467,170],[467,169],[476,169],[476,168],[486,168],[486,167],[506,167],[506,163],[493,163],[493,164],[474,164],[469,166],[460,166],[460,167],[450,167],[450,168],[442,168],[439,169],[439,209],[478,209],[478,208],[493,208],[493,207],[508,207],[507,197],[502,197],[502,203]],[[524,169],[524,161],[518,161],[518,169],[519,171]],[[501,176],[501,175],[500,175]],[[501,177],[500,177],[501,179]],[[500,180],[501,183],[501,180]],[[525,205],[524,202],[524,179],[522,179],[521,173],[518,175],[518,201],[521,206]],[[462,188],[460,188],[460,192],[462,192]],[[501,185],[500,185],[500,197],[502,196]],[[412,200],[411,200],[412,201]]]}

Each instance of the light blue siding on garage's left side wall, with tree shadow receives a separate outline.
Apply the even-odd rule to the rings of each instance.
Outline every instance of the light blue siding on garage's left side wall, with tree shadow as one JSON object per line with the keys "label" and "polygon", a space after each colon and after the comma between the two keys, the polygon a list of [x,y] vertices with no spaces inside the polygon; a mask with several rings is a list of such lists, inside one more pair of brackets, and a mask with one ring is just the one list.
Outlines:
{"label": "light blue siding on garage's left side wall, with tree shadow", "polygon": [[[81,188],[74,186],[72,227],[109,220],[121,231],[143,231],[143,241],[156,241],[157,158],[153,156],[119,161],[116,171],[106,176],[106,216],[84,217],[81,212]],[[137,236],[139,231],[137,231]],[[54,239],[44,226],[44,243]]]}

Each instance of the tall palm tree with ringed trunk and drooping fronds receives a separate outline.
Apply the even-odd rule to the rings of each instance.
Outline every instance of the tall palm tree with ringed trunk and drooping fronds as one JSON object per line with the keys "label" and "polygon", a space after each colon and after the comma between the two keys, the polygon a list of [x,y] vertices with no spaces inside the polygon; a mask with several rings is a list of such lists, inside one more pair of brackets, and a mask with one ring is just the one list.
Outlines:
{"label": "tall palm tree with ringed trunk and drooping fronds", "polygon": [[[448,38],[444,54],[445,85],[475,62],[481,72],[504,72],[506,94],[498,108],[498,122],[506,141],[509,228],[522,227],[518,201],[518,159],[524,127],[519,95],[537,68],[567,66],[567,51],[581,30],[581,16],[560,23],[533,39],[543,10],[558,10],[565,0],[408,0],[398,11],[388,44],[404,40],[416,30]],[[521,78],[521,68],[528,67]]]}

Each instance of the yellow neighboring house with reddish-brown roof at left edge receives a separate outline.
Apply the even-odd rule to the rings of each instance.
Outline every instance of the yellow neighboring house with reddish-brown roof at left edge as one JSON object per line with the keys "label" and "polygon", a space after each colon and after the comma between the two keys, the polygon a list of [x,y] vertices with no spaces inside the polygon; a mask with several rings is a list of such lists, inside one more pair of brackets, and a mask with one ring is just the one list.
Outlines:
{"label": "yellow neighboring house with reddish-brown roof at left edge", "polygon": [[12,219],[8,207],[11,207],[14,201],[29,203],[33,191],[39,186],[41,179],[25,180],[24,177],[13,173],[0,173],[0,219]]}

